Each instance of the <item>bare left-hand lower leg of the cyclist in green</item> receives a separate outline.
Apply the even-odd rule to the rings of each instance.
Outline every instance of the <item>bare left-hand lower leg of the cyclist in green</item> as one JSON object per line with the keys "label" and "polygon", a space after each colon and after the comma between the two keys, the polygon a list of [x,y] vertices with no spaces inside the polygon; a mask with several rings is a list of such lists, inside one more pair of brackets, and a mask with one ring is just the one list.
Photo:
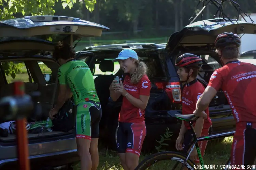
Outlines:
{"label": "bare left-hand lower leg of the cyclist in green", "polygon": [[80,157],[81,170],[91,170],[91,141],[83,138],[76,138],[77,152]]}

